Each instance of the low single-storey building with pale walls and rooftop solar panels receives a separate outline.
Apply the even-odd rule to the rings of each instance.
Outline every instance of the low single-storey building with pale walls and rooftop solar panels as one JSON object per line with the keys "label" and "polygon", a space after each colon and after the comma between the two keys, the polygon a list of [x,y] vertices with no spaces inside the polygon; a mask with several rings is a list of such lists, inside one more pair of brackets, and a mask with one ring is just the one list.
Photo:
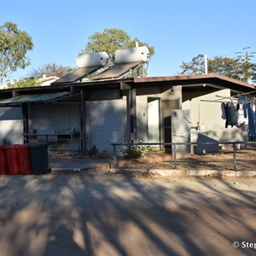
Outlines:
{"label": "low single-storey building with pale walls and rooftop solar panels", "polygon": [[[111,153],[111,143],[249,139],[247,124],[225,127],[221,105],[239,95],[250,99],[254,85],[213,73],[131,76],[142,63],[79,67],[49,86],[0,90],[0,137],[11,143],[48,141],[55,154],[86,154],[93,145]],[[179,148],[190,149],[201,150]]]}

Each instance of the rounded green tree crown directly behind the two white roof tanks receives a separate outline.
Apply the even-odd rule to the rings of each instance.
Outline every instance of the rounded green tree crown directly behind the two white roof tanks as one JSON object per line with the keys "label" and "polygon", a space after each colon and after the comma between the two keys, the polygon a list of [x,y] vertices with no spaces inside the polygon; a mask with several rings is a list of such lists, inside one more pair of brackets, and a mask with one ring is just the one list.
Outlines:
{"label": "rounded green tree crown directly behind the two white roof tanks", "polygon": [[139,46],[147,46],[150,55],[154,55],[154,47],[141,42],[138,38],[131,39],[126,32],[115,28],[106,28],[103,32],[95,32],[89,37],[88,43],[80,54],[106,51],[113,62],[114,53],[117,49],[135,47],[136,42]]}

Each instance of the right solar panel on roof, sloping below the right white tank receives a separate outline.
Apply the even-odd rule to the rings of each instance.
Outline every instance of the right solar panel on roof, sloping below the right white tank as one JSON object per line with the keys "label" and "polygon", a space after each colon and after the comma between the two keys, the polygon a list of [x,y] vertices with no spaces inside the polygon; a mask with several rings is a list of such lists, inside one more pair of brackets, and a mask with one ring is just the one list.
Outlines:
{"label": "right solar panel on roof, sloping below the right white tank", "polygon": [[98,79],[116,79],[119,76],[129,72],[131,69],[138,67],[141,64],[139,62],[131,62],[131,63],[120,63],[113,67],[109,67],[107,70],[103,71],[102,73],[96,75],[92,80]]}

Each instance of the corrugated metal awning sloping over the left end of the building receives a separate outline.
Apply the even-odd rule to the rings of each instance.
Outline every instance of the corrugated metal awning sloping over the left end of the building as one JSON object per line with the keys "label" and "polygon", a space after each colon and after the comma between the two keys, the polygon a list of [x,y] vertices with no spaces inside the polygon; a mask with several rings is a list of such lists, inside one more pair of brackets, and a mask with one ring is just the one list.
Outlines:
{"label": "corrugated metal awning sloping over the left end of the building", "polygon": [[33,95],[22,95],[22,96],[15,96],[8,99],[4,99],[0,101],[0,106],[4,105],[19,105],[22,103],[29,103],[29,102],[52,102],[57,99],[61,99],[64,96],[69,96],[69,92],[54,92],[54,93],[47,93],[47,94],[33,94]]}

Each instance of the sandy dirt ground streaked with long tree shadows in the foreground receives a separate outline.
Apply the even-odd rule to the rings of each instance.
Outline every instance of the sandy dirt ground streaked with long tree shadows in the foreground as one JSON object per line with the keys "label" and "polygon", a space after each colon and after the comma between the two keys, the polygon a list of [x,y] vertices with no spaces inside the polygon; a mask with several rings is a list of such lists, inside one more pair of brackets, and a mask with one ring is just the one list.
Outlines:
{"label": "sandy dirt ground streaked with long tree shadows in the foreground", "polygon": [[253,255],[232,247],[256,235],[250,183],[1,176],[1,255]]}

